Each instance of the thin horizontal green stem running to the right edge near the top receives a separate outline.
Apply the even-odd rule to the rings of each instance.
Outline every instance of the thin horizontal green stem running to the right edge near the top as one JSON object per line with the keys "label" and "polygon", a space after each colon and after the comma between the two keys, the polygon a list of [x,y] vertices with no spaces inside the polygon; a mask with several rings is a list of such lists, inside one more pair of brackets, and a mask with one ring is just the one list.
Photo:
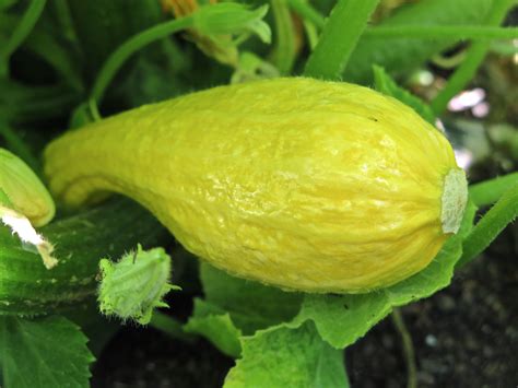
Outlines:
{"label": "thin horizontal green stem running to the right edge near the top", "polygon": [[364,36],[405,39],[515,39],[518,38],[518,28],[472,25],[402,25],[398,27],[367,28]]}

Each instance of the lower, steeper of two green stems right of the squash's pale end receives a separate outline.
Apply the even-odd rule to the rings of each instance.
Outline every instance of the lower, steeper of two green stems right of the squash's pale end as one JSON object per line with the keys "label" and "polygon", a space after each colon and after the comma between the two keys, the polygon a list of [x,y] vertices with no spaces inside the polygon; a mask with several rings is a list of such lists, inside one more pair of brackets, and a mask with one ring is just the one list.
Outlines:
{"label": "lower, steeper of two green stems right of the squash's pale end", "polygon": [[476,223],[462,243],[462,257],[457,262],[460,268],[472,261],[513,222],[518,214],[518,184],[507,190],[487,213]]}

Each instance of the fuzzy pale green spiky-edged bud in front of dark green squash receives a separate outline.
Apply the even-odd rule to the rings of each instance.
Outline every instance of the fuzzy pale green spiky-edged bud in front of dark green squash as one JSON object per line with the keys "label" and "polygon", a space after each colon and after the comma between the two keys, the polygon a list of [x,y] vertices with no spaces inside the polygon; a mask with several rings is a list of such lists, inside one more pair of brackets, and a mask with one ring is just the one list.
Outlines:
{"label": "fuzzy pale green spiky-edged bud in front of dark green squash", "polygon": [[162,301],[170,290],[179,290],[169,283],[172,262],[163,248],[125,255],[118,262],[102,259],[101,286],[97,301],[106,316],[122,320],[133,319],[141,325],[151,320],[155,307],[168,307]]}

